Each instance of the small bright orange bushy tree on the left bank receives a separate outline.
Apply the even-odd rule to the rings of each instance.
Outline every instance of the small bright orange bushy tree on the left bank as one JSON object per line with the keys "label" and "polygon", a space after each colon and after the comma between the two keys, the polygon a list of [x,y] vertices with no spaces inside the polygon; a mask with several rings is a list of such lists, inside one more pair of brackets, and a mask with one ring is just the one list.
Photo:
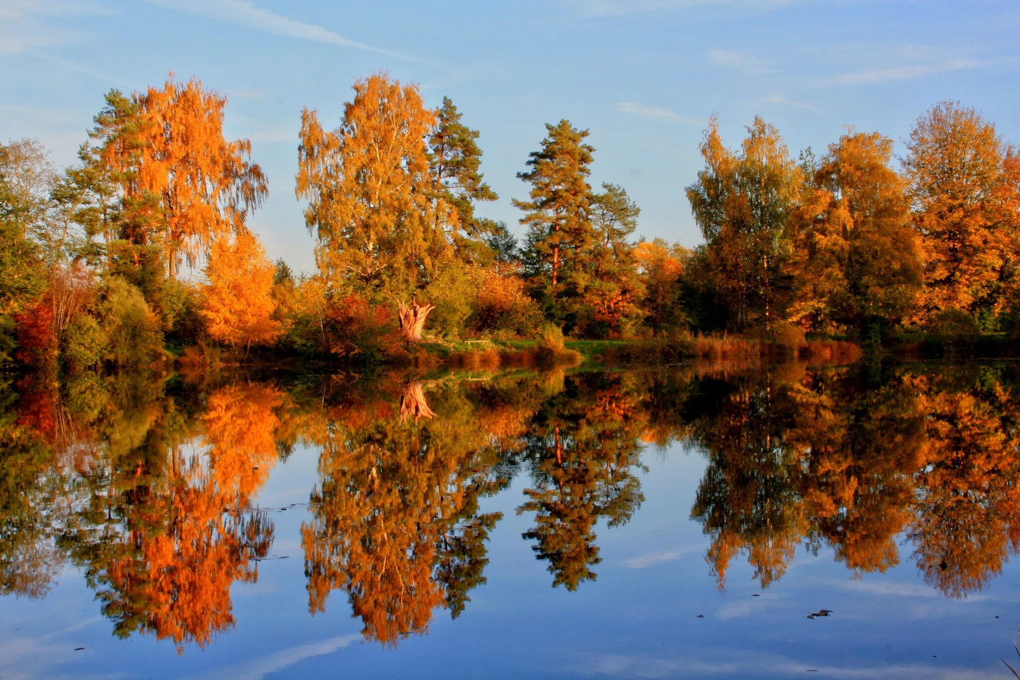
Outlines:
{"label": "small bright orange bushy tree on the left bank", "polygon": [[202,316],[213,338],[232,347],[243,345],[247,351],[253,343],[268,344],[279,335],[279,322],[273,318],[276,268],[254,233],[245,230],[233,240],[213,242],[205,273],[209,285]]}

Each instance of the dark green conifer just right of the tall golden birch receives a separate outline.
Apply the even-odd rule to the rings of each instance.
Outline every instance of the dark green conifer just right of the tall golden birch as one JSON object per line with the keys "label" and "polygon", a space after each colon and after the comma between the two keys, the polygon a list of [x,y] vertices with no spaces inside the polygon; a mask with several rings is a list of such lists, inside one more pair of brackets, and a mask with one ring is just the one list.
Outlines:
{"label": "dark green conifer just right of the tall golden birch", "polygon": [[[486,184],[480,172],[481,149],[478,130],[461,122],[463,116],[449,97],[436,112],[436,126],[428,137],[432,179],[440,196],[457,211],[458,229],[453,232],[454,246],[470,260],[477,260],[484,239],[498,225],[491,219],[474,216],[476,201],[496,201],[496,192]],[[437,214],[437,219],[440,215]]]}

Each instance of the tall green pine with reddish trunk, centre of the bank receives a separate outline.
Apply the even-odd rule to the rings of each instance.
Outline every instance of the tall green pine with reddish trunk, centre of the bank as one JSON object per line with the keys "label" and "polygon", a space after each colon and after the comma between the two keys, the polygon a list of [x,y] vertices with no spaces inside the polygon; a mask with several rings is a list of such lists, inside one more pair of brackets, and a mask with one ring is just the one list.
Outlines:
{"label": "tall green pine with reddish trunk, centre of the bank", "polygon": [[595,241],[588,184],[595,149],[584,143],[589,132],[573,127],[568,120],[546,123],[546,130],[542,148],[529,154],[530,169],[517,173],[531,186],[530,200],[514,199],[513,204],[524,211],[520,223],[528,227],[528,273],[539,295],[562,314],[559,300],[577,270],[580,255]]}

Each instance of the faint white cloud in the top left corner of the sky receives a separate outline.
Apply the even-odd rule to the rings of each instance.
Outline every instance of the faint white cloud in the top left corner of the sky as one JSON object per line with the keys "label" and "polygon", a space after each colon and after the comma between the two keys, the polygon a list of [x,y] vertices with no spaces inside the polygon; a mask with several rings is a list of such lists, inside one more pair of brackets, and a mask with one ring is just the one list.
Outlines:
{"label": "faint white cloud in the top left corner of the sky", "polygon": [[79,34],[48,19],[108,13],[106,7],[85,0],[2,0],[0,54],[56,47],[78,39]]}

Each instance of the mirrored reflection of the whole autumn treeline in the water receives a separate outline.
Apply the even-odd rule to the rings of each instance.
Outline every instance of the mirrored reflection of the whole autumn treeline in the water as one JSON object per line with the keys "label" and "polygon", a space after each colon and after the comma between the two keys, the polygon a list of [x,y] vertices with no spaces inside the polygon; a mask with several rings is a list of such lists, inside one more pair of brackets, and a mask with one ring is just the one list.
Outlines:
{"label": "mirrored reflection of the whole autumn treeline in the water", "polygon": [[384,644],[469,607],[502,519],[481,502],[519,475],[522,550],[556,586],[595,580],[597,527],[640,512],[643,458],[671,442],[707,460],[691,517],[720,587],[740,556],[766,587],[804,545],[859,575],[910,562],[961,597],[1020,546],[1013,366],[38,377],[0,410],[0,593],[44,596],[71,564],[118,635],[181,647],[234,625],[231,585],[258,578],[276,537],[278,509],[255,499],[297,447],[319,456],[309,610],[343,607],[339,591]]}

